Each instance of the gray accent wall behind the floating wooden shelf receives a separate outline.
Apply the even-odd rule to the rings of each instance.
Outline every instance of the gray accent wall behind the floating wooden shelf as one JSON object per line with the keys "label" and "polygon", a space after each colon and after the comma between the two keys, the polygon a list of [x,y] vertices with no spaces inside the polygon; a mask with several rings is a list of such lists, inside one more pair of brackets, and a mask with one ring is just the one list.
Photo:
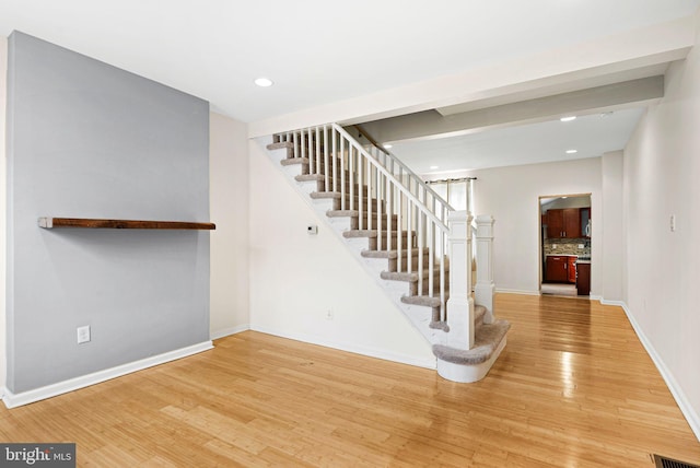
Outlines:
{"label": "gray accent wall behind the floating wooden shelf", "polygon": [[8,51],[9,390],[208,341],[209,231],[37,218],[210,221],[209,103],[23,33]]}

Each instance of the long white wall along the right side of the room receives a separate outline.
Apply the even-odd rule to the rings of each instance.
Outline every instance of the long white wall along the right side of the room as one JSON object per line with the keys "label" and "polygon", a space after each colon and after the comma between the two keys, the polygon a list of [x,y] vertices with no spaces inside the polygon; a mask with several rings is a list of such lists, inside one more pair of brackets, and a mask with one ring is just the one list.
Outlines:
{"label": "long white wall along the right side of the room", "polygon": [[625,204],[629,315],[700,437],[698,43],[625,151]]}

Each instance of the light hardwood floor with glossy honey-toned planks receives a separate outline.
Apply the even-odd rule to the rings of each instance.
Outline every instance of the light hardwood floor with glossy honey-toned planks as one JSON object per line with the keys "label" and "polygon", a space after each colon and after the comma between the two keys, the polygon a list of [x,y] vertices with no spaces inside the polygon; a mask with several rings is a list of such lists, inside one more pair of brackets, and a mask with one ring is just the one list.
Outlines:
{"label": "light hardwood floor with glossy honey-toned planks", "polygon": [[215,349],[0,409],[4,442],[75,442],[79,466],[653,467],[700,443],[619,307],[499,294],[489,375],[246,331]]}

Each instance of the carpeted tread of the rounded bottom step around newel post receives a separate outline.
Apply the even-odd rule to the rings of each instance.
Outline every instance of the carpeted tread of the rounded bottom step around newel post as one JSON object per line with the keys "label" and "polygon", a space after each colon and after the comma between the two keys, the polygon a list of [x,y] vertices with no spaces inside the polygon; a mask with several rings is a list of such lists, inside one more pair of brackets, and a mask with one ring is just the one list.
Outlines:
{"label": "carpeted tread of the rounded bottom step around newel post", "polygon": [[483,324],[476,329],[474,348],[460,350],[445,344],[433,344],[433,354],[442,361],[453,364],[475,365],[488,361],[505,337],[511,324],[499,319],[493,324]]}

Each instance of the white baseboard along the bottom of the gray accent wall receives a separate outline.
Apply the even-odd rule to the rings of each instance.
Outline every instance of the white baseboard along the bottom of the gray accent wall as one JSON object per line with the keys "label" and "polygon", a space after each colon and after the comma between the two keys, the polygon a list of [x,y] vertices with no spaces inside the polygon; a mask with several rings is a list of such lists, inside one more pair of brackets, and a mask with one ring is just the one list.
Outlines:
{"label": "white baseboard along the bottom of the gray accent wall", "polygon": [[33,403],[34,401],[43,400],[45,398],[55,397],[57,395],[67,394],[69,391],[78,390],[91,385],[100,384],[101,382],[109,381],[112,378],[120,377],[132,372],[141,371],[143,368],[152,367],[154,365],[163,364],[170,361],[175,361],[188,355],[197,354],[202,351],[207,351],[213,348],[211,341],[203,341],[198,344],[192,344],[187,348],[180,348],[175,351],[168,351],[163,354],[154,355],[151,358],[142,359],[139,361],[130,362],[127,364],[118,365],[112,368],[105,368],[104,371],[97,371],[92,374],[83,375],[80,377],[71,378],[68,381],[59,382],[57,384],[47,385],[45,387],[35,388],[34,390],[23,391],[21,394],[12,394],[7,387],[2,389],[4,394],[2,401],[9,409],[15,408],[22,405]]}

